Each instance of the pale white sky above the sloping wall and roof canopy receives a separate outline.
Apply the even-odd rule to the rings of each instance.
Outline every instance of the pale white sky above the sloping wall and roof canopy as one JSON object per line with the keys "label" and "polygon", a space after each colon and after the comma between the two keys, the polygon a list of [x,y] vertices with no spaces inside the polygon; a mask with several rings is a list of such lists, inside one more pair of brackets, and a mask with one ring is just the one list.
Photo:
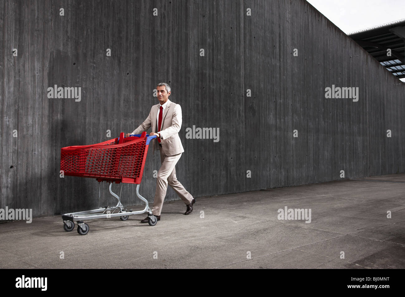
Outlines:
{"label": "pale white sky above the sloping wall and roof canopy", "polygon": [[307,0],[343,32],[405,19],[405,0]]}

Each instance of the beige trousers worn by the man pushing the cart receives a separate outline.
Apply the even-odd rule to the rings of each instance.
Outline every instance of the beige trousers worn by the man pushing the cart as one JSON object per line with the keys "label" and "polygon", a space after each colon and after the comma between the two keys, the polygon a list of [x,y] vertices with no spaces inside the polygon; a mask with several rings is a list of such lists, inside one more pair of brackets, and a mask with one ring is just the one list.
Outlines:
{"label": "beige trousers worn by the man pushing the cart", "polygon": [[162,166],[158,171],[158,181],[156,184],[155,198],[153,200],[152,214],[160,216],[162,211],[164,197],[166,197],[167,184],[169,184],[173,190],[179,195],[184,203],[190,204],[193,200],[192,195],[185,190],[182,184],[176,178],[176,164],[179,161],[181,154],[175,156],[166,156],[162,150],[160,151],[160,162]]}

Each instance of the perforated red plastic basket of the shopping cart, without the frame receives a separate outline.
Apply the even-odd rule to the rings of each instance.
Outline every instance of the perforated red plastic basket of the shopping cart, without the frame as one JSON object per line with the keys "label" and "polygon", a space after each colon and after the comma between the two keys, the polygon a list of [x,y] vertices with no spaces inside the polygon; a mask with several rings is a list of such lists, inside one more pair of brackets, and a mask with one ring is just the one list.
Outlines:
{"label": "perforated red plastic basket of the shopping cart, without the frame", "polygon": [[93,145],[62,147],[60,170],[64,175],[92,177],[99,182],[140,184],[149,141],[153,138],[146,132],[126,138],[121,133],[118,138]]}

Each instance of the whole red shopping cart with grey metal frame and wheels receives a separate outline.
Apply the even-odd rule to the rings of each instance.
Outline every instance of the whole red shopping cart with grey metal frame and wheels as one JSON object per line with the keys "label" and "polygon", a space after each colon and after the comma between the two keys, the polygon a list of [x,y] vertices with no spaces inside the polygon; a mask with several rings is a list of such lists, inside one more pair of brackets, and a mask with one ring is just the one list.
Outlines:
{"label": "whole red shopping cart with grey metal frame and wheels", "polygon": [[[103,208],[62,215],[65,231],[72,231],[77,222],[77,233],[86,235],[89,232],[89,225],[84,220],[119,217],[125,221],[131,215],[146,212],[149,225],[156,225],[158,219],[153,216],[148,201],[139,194],[149,142],[154,138],[156,136],[149,136],[146,132],[126,138],[124,133],[121,133],[118,138],[101,143],[68,146],[61,149],[60,170],[63,170],[64,175],[91,177],[96,178],[98,182],[109,182],[110,194],[117,199],[115,206],[107,205]],[[113,182],[137,184],[136,196],[145,202],[145,208],[134,212],[132,209],[126,209],[121,203],[121,193],[118,196],[111,190]]]}

